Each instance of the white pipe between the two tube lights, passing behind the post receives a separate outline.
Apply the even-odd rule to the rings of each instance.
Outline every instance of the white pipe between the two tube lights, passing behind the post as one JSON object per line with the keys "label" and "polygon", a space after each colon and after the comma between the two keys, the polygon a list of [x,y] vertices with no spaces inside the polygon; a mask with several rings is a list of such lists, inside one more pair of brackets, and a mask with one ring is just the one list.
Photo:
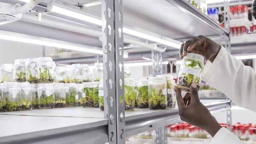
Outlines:
{"label": "white pipe between the two tube lights, passing behind the post", "polygon": [[[49,27],[74,31],[74,32],[77,32],[77,33],[82,33],[82,34],[88,34],[88,35],[93,35],[93,36],[98,36],[98,37],[102,36],[102,31],[101,30],[88,28],[88,27],[82,26],[80,24],[61,23],[59,21],[50,20],[50,19],[47,19],[47,18],[44,18],[44,17],[42,17],[41,20],[38,21],[38,16],[31,15],[31,14],[22,14],[21,20],[28,21],[28,22],[33,22],[33,23],[38,23],[38,24],[42,24],[42,25],[45,25],[45,26],[49,26]],[[147,44],[147,43],[144,43],[144,42],[141,42],[141,41],[138,41],[136,39],[129,38],[129,37],[124,37],[123,41],[126,42],[126,43],[140,45],[140,46],[143,46],[143,48],[147,48],[147,49],[150,49],[150,50],[156,50],[156,51],[159,51],[159,52],[166,51],[166,48],[159,48],[156,45]]]}

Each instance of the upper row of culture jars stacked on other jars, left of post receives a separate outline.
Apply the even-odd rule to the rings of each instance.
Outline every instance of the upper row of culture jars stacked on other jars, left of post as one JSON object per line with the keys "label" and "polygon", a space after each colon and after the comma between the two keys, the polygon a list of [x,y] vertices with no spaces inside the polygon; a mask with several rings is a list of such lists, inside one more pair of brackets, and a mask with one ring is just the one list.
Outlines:
{"label": "upper row of culture jars stacked on other jars, left of post", "polygon": [[93,72],[87,64],[72,64],[57,67],[50,57],[17,59],[13,64],[0,66],[0,82],[29,82],[37,83],[78,83],[99,81],[103,78],[102,63],[95,63]]}

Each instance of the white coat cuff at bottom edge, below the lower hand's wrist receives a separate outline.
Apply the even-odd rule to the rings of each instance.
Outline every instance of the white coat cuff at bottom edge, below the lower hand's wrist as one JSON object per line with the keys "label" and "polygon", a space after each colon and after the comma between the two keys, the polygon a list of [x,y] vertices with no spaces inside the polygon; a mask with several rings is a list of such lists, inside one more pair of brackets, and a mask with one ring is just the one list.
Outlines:
{"label": "white coat cuff at bottom edge, below the lower hand's wrist", "polygon": [[221,128],[213,137],[210,144],[244,144],[226,128]]}

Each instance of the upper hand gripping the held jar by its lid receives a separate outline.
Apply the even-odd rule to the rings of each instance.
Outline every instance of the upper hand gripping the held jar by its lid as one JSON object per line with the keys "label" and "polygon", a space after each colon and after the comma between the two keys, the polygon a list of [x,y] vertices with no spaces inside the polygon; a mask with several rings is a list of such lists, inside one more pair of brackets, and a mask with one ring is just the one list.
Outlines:
{"label": "upper hand gripping the held jar by its lid", "polygon": [[204,56],[205,62],[206,60],[210,60],[210,62],[213,63],[220,49],[221,45],[210,38],[198,36],[182,44],[179,52],[181,59],[186,56],[188,52],[191,52]]}

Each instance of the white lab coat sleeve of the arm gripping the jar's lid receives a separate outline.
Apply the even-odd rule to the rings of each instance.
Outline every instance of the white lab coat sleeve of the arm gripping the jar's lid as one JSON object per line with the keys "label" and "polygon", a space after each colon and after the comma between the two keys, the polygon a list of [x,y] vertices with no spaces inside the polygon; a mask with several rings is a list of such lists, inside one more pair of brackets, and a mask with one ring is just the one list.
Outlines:
{"label": "white lab coat sleeve of the arm gripping the jar's lid", "polygon": [[250,66],[221,48],[214,62],[208,61],[202,74],[203,81],[226,94],[239,107],[256,111],[256,73]]}

